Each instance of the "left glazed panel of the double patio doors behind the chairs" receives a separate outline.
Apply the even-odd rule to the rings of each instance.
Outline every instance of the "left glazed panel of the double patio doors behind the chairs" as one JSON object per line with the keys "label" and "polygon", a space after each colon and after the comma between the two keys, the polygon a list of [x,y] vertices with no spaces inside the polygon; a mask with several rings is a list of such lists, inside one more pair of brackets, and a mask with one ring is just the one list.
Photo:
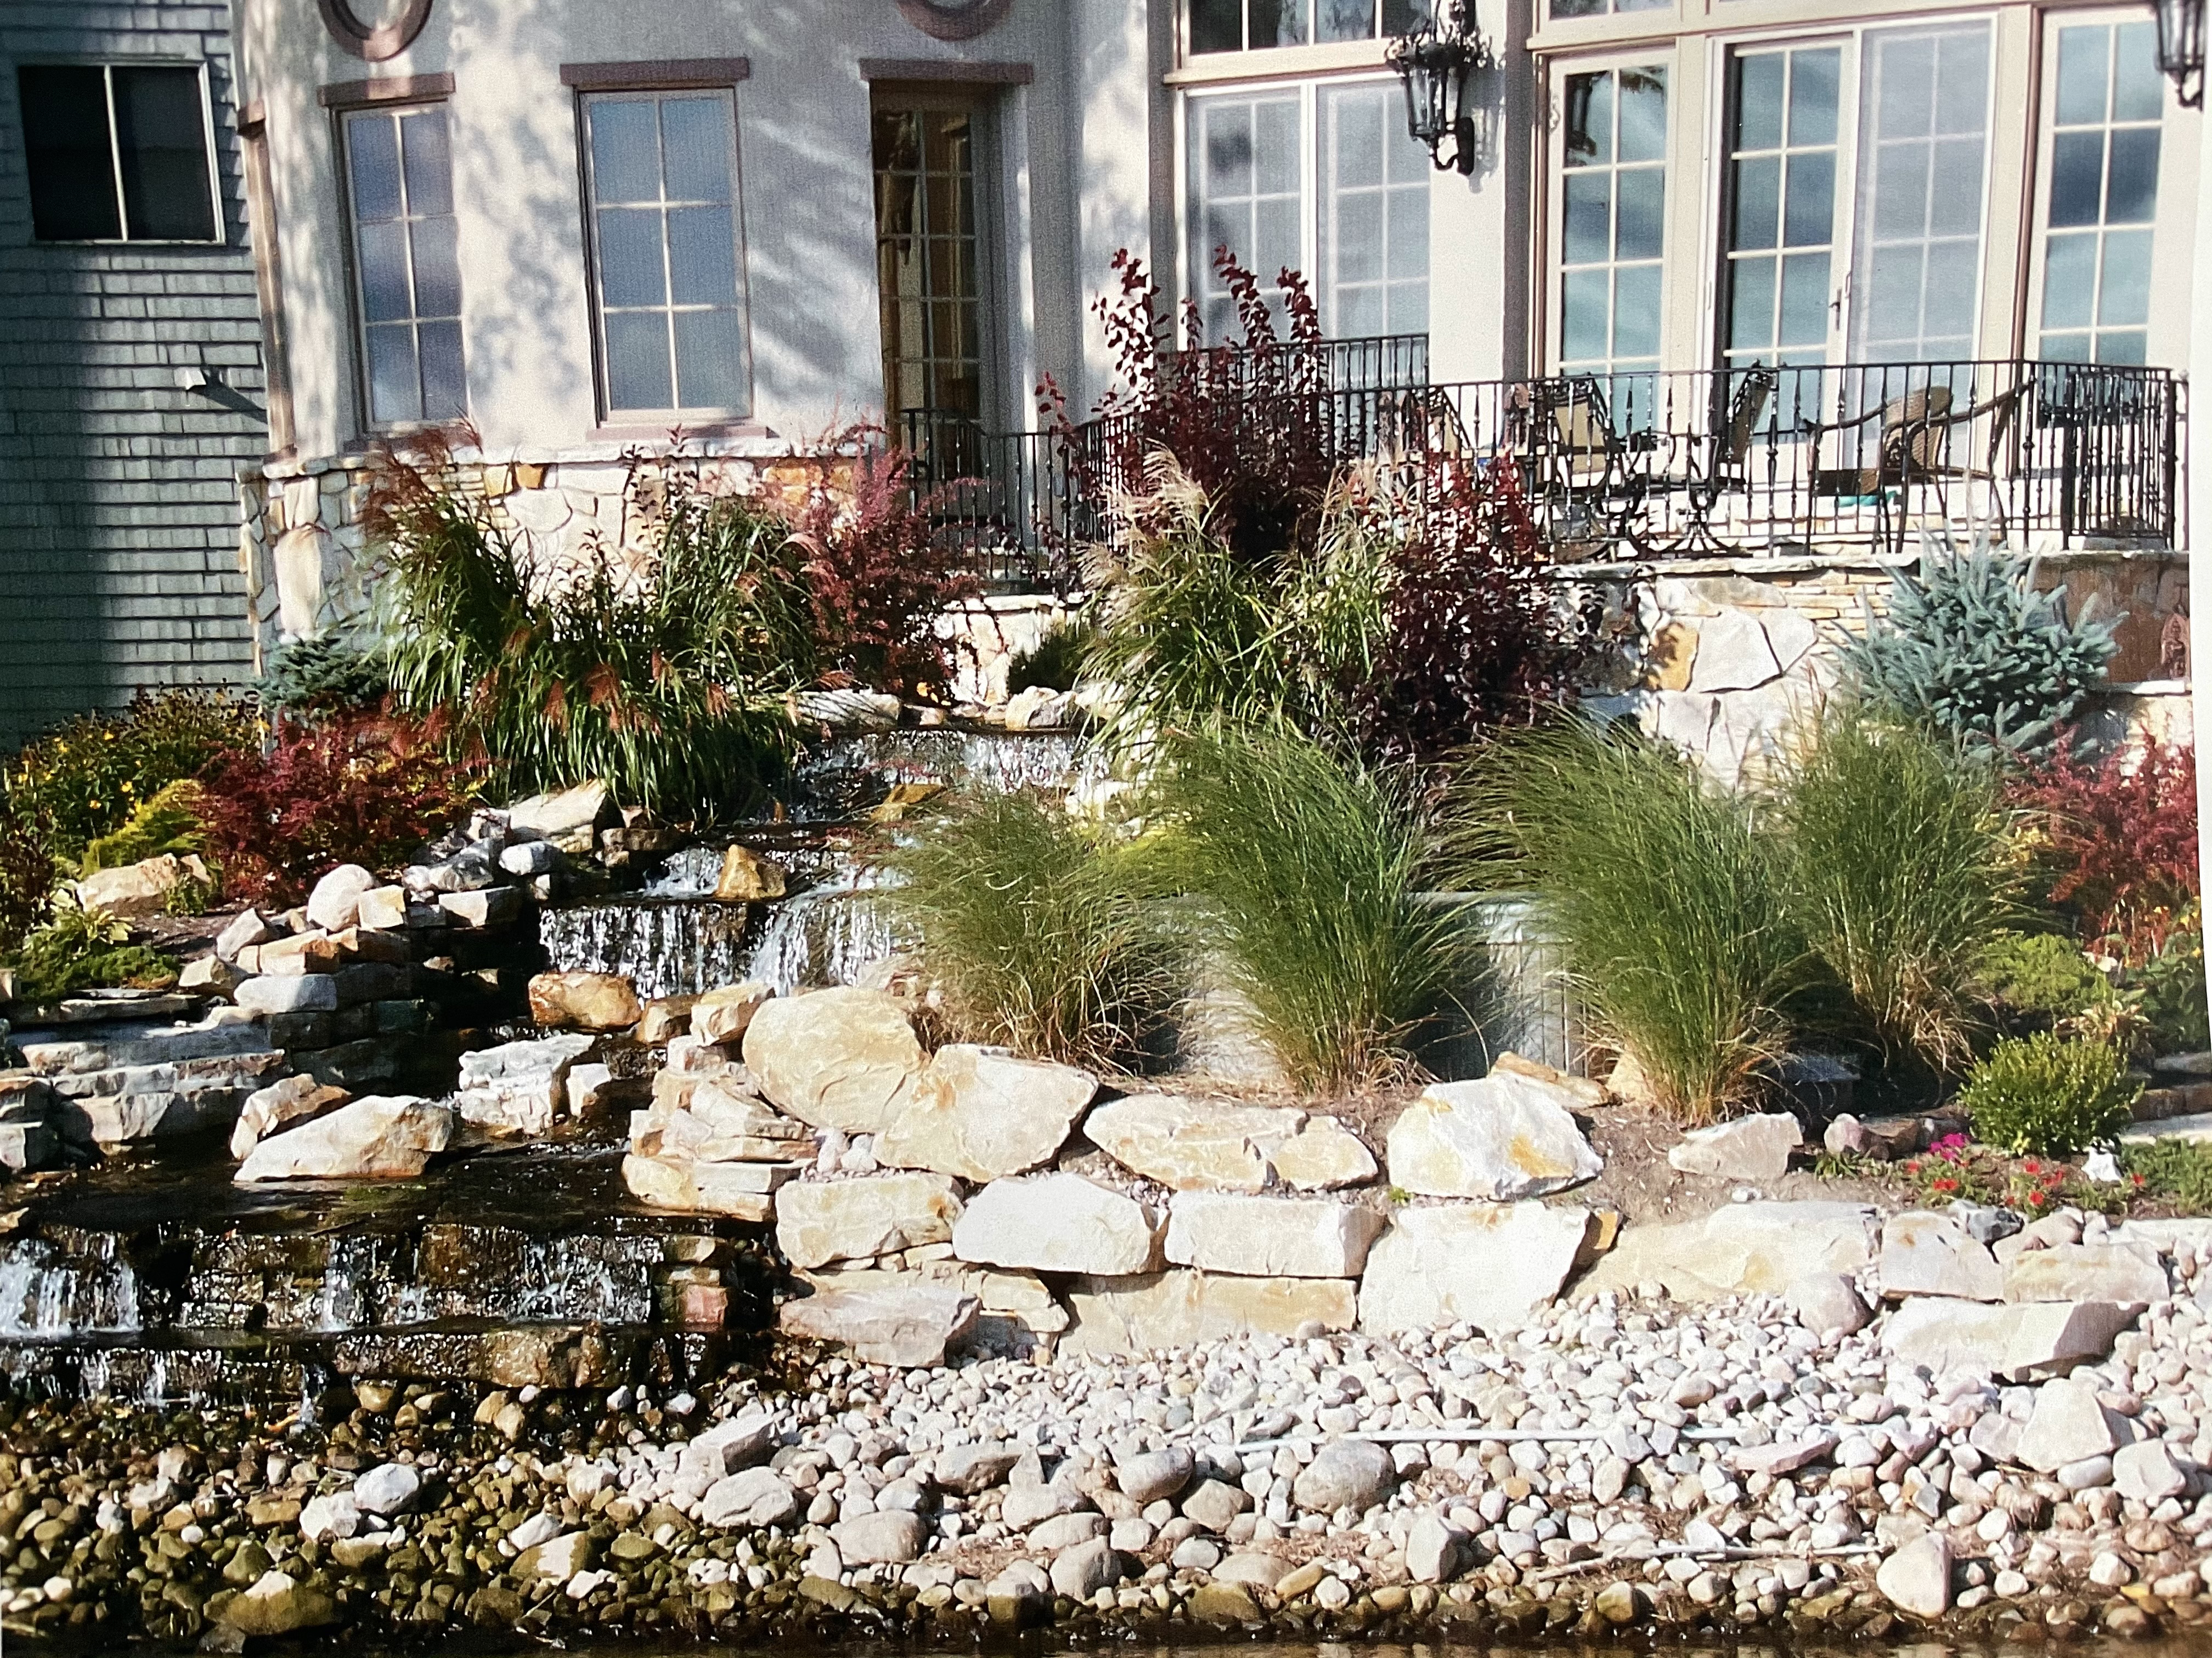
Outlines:
{"label": "left glazed panel of the double patio doors behind the chairs", "polygon": [[1721,349],[1730,367],[1827,358],[1840,46],[1730,62]]}

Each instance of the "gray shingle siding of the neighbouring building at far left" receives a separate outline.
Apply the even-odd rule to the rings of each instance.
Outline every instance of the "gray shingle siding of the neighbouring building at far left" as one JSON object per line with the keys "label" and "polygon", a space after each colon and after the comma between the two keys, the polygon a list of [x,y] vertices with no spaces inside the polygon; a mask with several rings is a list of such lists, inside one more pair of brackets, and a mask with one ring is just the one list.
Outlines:
{"label": "gray shingle siding of the neighbouring building at far left", "polygon": [[[31,241],[20,62],[206,64],[223,245]],[[230,9],[0,4],[0,747],[144,685],[250,672],[237,473],[261,420],[177,385],[223,369],[263,400],[230,84]]]}

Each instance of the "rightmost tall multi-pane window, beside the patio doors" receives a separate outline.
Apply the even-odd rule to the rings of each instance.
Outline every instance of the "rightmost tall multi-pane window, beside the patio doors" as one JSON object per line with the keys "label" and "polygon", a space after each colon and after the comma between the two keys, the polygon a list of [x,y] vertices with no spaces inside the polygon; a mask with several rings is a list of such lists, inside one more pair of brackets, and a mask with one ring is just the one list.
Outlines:
{"label": "rightmost tall multi-pane window, beside the patio doors", "polygon": [[2141,363],[2159,203],[2157,27],[2097,22],[2057,38],[2042,354]]}

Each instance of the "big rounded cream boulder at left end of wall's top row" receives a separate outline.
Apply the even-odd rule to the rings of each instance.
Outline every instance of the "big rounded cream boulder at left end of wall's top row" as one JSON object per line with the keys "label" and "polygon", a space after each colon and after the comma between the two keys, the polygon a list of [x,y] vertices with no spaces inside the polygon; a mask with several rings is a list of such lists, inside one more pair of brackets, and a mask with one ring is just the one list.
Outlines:
{"label": "big rounded cream boulder at left end of wall's top row", "polygon": [[922,1043],[898,997],[810,990],[752,1015],[745,1070],[770,1101],[814,1127],[880,1134],[914,1096]]}

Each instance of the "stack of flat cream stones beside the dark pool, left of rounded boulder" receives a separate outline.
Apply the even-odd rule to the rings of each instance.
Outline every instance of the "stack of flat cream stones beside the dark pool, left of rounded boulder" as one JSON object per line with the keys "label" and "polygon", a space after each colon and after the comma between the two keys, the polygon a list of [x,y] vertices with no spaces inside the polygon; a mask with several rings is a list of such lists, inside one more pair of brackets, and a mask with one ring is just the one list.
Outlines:
{"label": "stack of flat cream stones beside the dark pool, left of rounded boulder", "polygon": [[657,1024],[690,1028],[668,1037],[668,1066],[653,1079],[653,1105],[630,1112],[622,1178],[664,1209],[774,1218],[774,1194],[814,1161],[814,1130],[770,1105],[745,1072],[739,1043],[770,999],[765,984],[710,990],[688,1010],[661,1008]]}

